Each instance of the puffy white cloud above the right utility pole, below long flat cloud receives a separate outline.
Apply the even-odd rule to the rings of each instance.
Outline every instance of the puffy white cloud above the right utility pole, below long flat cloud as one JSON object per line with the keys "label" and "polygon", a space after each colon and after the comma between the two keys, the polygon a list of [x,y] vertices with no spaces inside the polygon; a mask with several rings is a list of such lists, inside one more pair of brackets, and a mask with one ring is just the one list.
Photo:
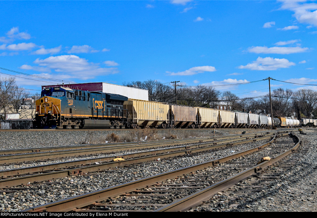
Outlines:
{"label": "puffy white cloud above the right utility pole, below long flat cloud", "polygon": [[247,65],[239,66],[239,69],[250,69],[250,70],[276,70],[279,68],[289,68],[294,66],[295,63],[289,62],[287,59],[272,58],[272,57],[258,57],[256,61],[248,63]]}

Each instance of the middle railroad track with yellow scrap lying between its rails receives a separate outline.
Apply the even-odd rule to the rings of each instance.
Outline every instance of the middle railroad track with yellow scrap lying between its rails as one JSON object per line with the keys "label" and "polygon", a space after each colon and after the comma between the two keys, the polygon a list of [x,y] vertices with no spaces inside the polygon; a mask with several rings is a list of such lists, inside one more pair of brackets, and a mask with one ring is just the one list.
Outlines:
{"label": "middle railroad track with yellow scrap lying between its rails", "polygon": [[[174,156],[190,155],[204,151],[212,152],[213,150],[222,147],[265,140],[271,137],[272,134],[270,133],[261,136],[252,135],[247,137],[237,137],[235,139],[220,140],[217,142],[201,142],[194,145],[135,152],[120,156],[107,156],[103,158],[93,158],[27,168],[3,170],[0,171],[0,188],[7,188],[26,183],[42,182],[73,175],[84,175],[90,172],[105,170],[113,167],[170,158]],[[113,160],[116,158],[122,158],[124,160],[120,162],[113,162]]]}

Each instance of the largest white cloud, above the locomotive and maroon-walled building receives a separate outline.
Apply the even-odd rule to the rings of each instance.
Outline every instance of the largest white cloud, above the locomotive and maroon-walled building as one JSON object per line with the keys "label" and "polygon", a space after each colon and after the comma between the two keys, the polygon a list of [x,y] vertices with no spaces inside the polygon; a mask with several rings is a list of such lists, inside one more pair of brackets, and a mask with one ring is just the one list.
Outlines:
{"label": "largest white cloud, above the locomotive and maroon-walled building", "polygon": [[55,70],[57,73],[69,73],[73,78],[84,80],[119,72],[117,68],[101,68],[98,64],[89,63],[86,59],[75,55],[50,56],[46,59],[37,58],[34,63]]}

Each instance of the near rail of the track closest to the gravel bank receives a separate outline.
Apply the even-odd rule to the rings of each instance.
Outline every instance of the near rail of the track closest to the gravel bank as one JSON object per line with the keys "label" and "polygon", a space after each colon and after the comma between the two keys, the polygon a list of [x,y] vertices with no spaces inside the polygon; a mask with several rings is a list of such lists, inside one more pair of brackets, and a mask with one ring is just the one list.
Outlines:
{"label": "near rail of the track closest to the gravel bank", "polygon": [[[270,133],[273,134],[273,133]],[[269,134],[268,134],[269,135]],[[240,137],[240,139],[247,138]],[[197,142],[199,142],[199,139]],[[230,139],[228,139],[230,140]],[[222,140],[222,141],[228,141]],[[221,141],[217,141],[221,142]],[[229,142],[229,141],[228,141]],[[207,143],[207,142],[206,142]],[[171,142],[164,143],[164,146],[169,145],[177,145],[179,144],[178,140],[174,140]],[[85,148],[85,149],[70,149],[70,150],[63,150],[63,151],[46,151],[40,153],[26,153],[26,154],[16,154],[16,155],[5,155],[0,156],[0,164],[9,164],[9,163],[16,163],[23,161],[39,161],[44,159],[52,159],[52,158],[61,158],[61,157],[69,157],[69,156],[79,156],[79,155],[92,155],[92,154],[99,154],[99,153],[106,153],[106,152],[116,152],[122,151],[122,149],[144,149],[147,147],[161,147],[162,142],[155,143],[155,144],[136,144],[136,145],[127,145],[127,146],[111,146],[111,147],[101,147],[101,148]]]}

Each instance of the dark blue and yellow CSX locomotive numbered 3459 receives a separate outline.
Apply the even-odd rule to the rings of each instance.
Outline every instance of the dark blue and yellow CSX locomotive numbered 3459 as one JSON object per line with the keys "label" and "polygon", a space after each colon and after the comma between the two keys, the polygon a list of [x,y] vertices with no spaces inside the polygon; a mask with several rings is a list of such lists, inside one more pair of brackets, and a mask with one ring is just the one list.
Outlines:
{"label": "dark blue and yellow CSX locomotive numbered 3459", "polygon": [[121,95],[50,87],[36,100],[33,127],[37,129],[124,128],[127,112]]}

